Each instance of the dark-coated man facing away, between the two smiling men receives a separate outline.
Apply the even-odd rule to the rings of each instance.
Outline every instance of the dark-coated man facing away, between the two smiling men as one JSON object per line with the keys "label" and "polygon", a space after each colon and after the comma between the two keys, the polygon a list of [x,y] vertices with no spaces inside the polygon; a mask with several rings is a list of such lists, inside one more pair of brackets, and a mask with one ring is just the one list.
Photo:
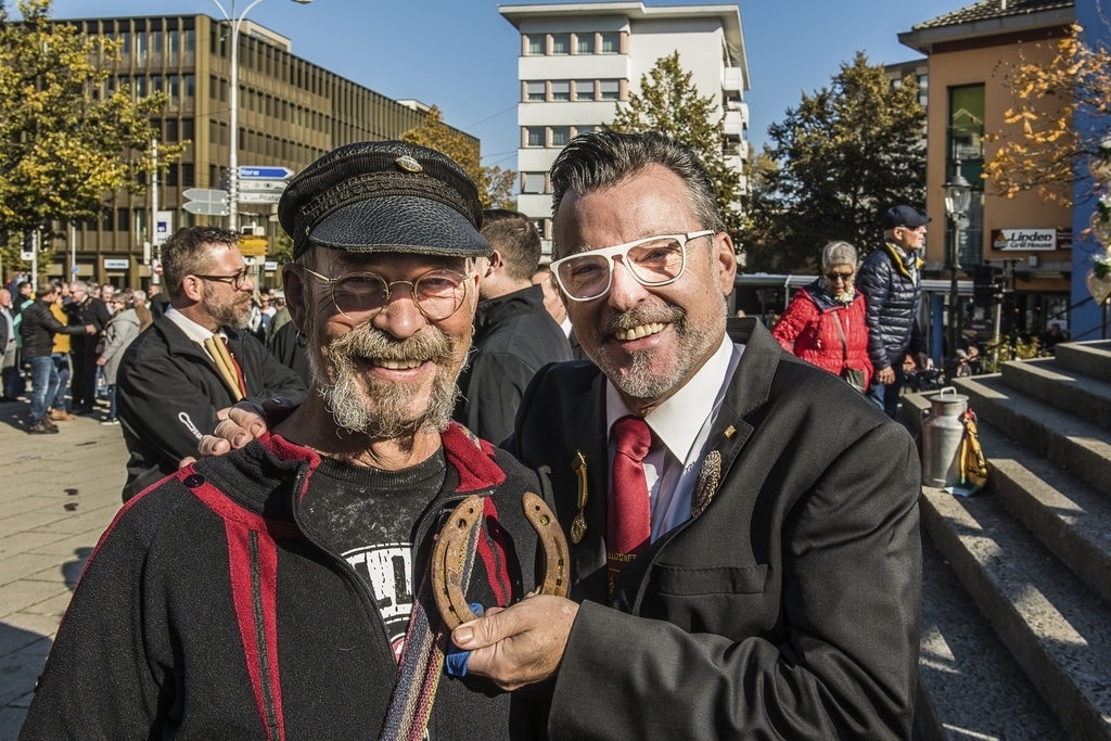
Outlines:
{"label": "dark-coated man facing away, between the two smiling men", "polygon": [[498,209],[482,216],[482,236],[493,253],[481,266],[474,346],[459,378],[456,420],[483,440],[501,442],[532,375],[548,363],[572,360],[563,330],[532,284],[540,234],[529,218]]}

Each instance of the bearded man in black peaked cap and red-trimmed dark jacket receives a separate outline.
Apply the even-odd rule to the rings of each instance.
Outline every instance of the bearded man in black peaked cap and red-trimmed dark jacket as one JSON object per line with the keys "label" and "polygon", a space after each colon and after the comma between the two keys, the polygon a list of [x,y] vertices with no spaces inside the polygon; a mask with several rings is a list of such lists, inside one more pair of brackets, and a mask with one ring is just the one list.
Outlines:
{"label": "bearded man in black peaked cap and red-trimmed dark jacket", "polygon": [[490,253],[478,191],[438,152],[359,143],[296,177],[279,218],[309,395],[128,502],[21,739],[531,735],[446,657],[427,568],[444,513],[478,494],[466,601],[508,605],[537,581],[521,497],[540,482],[449,423]]}

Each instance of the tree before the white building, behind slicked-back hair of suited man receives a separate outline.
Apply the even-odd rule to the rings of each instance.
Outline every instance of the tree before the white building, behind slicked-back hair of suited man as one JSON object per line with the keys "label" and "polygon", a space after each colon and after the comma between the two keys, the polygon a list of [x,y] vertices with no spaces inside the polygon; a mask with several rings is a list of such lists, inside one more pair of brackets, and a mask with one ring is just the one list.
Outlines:
{"label": "tree before the white building, behind slicked-back hair of suited man", "polygon": [[618,103],[613,123],[615,131],[660,131],[689,147],[705,168],[718,196],[725,228],[734,237],[741,228],[737,208],[741,197],[741,173],[725,160],[724,116],[713,96],[701,97],[684,72],[679,52],[661,57],[640,78],[640,93]]}

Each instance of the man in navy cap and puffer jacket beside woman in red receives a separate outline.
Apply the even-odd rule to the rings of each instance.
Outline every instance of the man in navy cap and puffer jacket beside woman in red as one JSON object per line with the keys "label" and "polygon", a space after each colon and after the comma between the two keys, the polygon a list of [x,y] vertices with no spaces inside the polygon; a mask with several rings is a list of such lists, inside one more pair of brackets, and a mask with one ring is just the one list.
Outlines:
{"label": "man in navy cap and puffer jacket beside woman in red", "polygon": [[909,207],[895,206],[883,214],[883,246],[860,266],[857,289],[867,301],[868,354],[875,375],[868,397],[894,419],[908,352],[919,370],[927,367],[925,337],[918,324],[922,306],[919,251],[925,247],[930,218]]}

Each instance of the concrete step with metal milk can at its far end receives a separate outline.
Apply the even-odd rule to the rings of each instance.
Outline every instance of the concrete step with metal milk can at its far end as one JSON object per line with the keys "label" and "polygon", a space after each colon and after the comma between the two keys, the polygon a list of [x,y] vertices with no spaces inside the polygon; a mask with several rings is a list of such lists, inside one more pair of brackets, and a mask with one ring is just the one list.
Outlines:
{"label": "concrete step with metal milk can at its far end", "polygon": [[1111,740],[1108,605],[993,495],[924,488],[921,508],[930,539],[1069,735]]}

